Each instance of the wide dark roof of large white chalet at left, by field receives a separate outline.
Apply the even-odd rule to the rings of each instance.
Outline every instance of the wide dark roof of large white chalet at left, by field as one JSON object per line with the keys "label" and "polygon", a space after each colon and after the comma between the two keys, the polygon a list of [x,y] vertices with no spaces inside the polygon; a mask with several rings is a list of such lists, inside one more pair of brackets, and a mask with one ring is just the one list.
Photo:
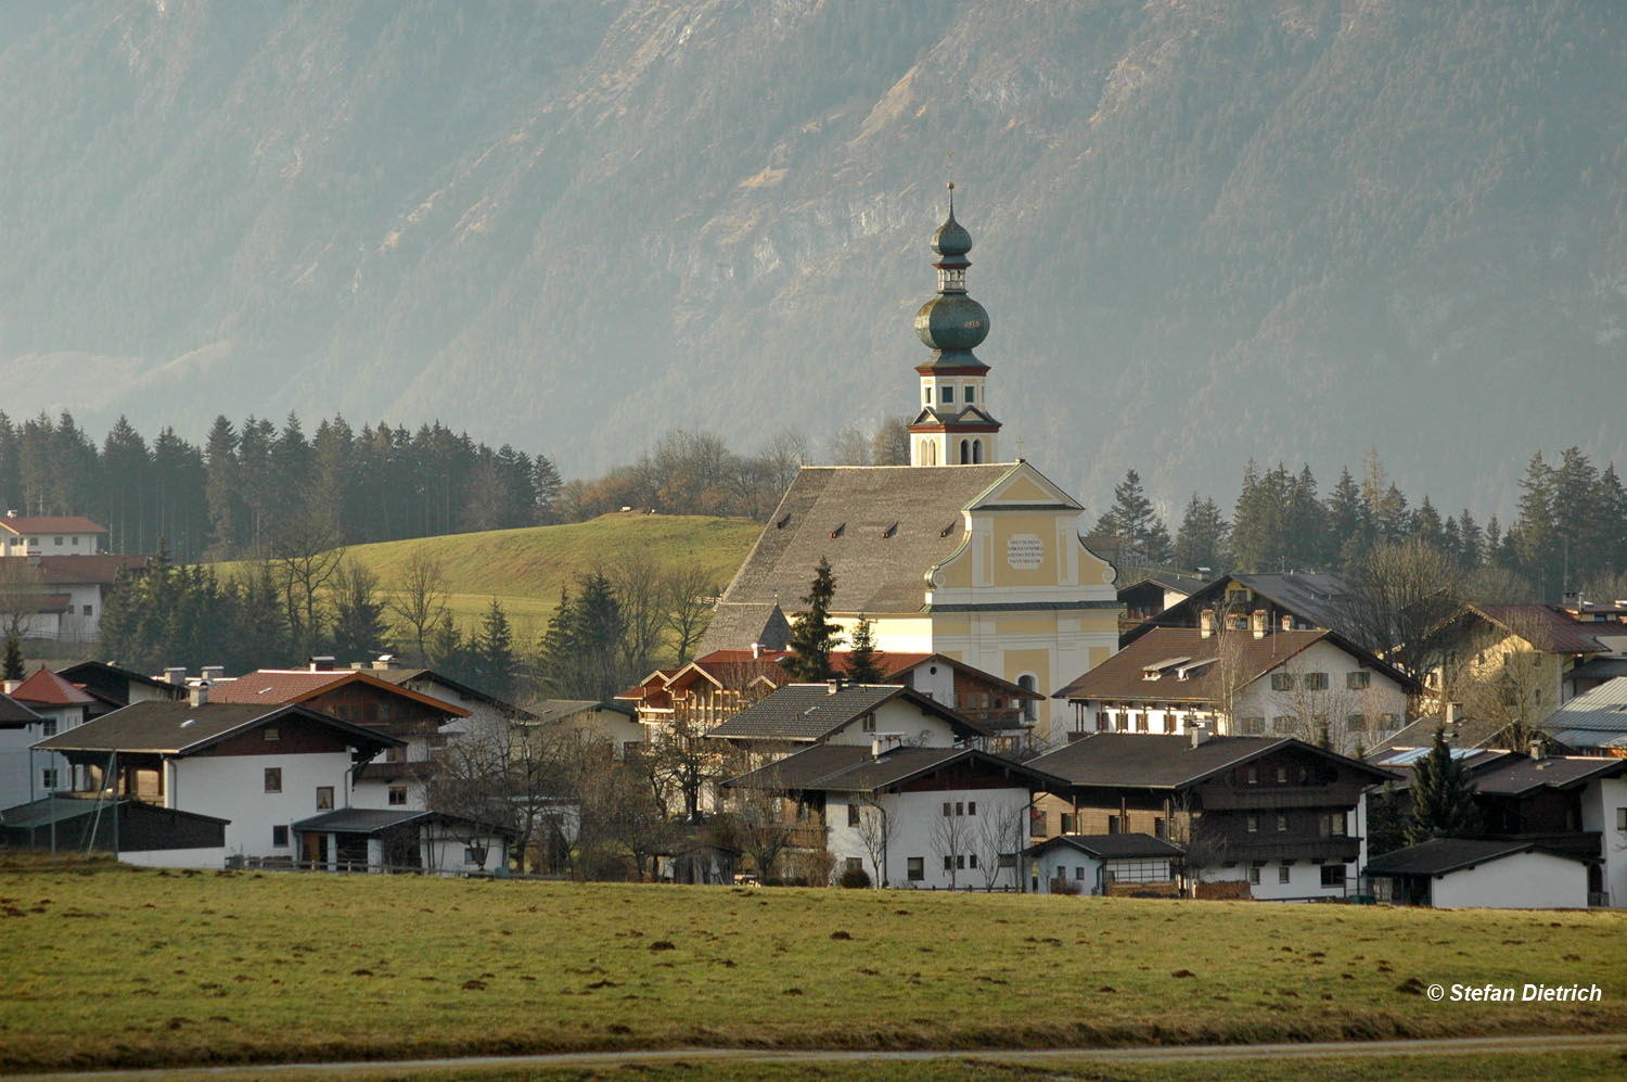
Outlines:
{"label": "wide dark roof of large white chalet at left, by field", "polygon": [[190,755],[226,737],[278,718],[304,718],[337,729],[361,748],[405,747],[403,740],[353,726],[298,703],[135,703],[96,721],[46,737],[34,747],[50,752],[156,752]]}

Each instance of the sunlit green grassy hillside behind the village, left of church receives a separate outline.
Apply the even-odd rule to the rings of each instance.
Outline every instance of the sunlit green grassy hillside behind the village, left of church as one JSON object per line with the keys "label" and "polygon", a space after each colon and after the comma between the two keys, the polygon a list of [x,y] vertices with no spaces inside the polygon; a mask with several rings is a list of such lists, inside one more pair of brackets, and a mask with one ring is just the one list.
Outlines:
{"label": "sunlit green grassy hillside behind the village, left of church", "polygon": [[[605,514],[587,522],[530,526],[483,534],[351,545],[347,555],[379,576],[382,591],[402,586],[413,553],[441,563],[451,591],[447,609],[473,625],[491,599],[503,604],[516,633],[540,633],[560,602],[560,587],[595,568],[608,571],[623,553],[644,553],[662,568],[700,565],[721,589],[745,560],[761,526],[748,519],[698,514]],[[239,565],[218,565],[229,574]]]}

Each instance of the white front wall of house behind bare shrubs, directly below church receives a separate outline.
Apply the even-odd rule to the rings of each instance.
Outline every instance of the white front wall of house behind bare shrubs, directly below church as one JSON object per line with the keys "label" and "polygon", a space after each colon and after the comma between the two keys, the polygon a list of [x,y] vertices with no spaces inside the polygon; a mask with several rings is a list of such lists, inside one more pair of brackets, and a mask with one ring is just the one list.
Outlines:
{"label": "white front wall of house behind bare shrubs, directly below church", "polygon": [[[978,814],[960,817],[960,830],[966,835],[966,840],[962,843],[957,856],[970,857],[975,853],[978,856],[978,867],[970,867],[971,862],[968,859],[968,867],[955,870],[953,885],[957,890],[968,887],[983,890],[988,882],[983,861],[999,861],[999,853],[1017,853],[1028,844],[1025,835],[1030,799],[1028,789],[955,789],[949,792],[883,794],[879,797],[879,802],[887,812],[888,825],[885,861],[888,885],[918,890],[949,890],[950,872],[944,870],[944,851],[939,848],[939,840],[934,835],[936,823],[944,815],[945,801],[952,805],[957,802],[966,805],[976,801]],[[866,807],[859,797],[830,794],[825,805],[825,822],[830,825],[827,844],[831,856],[836,857],[838,874],[841,874],[848,857],[862,857],[864,870],[875,877],[875,867],[872,866],[869,849],[864,848],[859,828],[848,827],[848,804],[853,801],[859,801],[861,817],[875,815],[875,809]],[[1019,830],[1014,831],[1014,836],[1004,846],[996,848],[984,843],[983,828],[997,823],[1002,809],[1005,810],[1005,817],[1017,823]],[[1017,836],[1019,833],[1023,836]],[[921,857],[923,879],[919,882],[908,879],[909,857]],[[1001,869],[994,885],[1005,890],[1015,887],[1017,869]]]}

